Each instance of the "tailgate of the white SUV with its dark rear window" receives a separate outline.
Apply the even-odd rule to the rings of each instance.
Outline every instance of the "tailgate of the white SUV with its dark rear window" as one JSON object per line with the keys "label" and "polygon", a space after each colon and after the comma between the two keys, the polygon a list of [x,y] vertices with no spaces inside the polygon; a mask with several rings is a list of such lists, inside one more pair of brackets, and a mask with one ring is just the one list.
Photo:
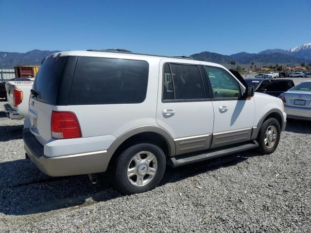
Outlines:
{"label": "tailgate of the white SUV with its dark rear window", "polygon": [[51,116],[56,104],[61,75],[66,57],[49,56],[35,78],[34,90],[29,101],[31,132],[41,145],[51,139]]}

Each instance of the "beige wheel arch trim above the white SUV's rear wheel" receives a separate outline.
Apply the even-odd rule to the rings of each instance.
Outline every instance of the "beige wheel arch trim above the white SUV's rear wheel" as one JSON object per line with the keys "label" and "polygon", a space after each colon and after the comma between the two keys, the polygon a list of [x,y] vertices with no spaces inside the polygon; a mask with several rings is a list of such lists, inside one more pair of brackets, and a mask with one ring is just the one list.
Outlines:
{"label": "beige wheel arch trim above the white SUV's rear wheel", "polygon": [[157,133],[160,136],[162,136],[165,140],[165,142],[168,145],[169,149],[169,156],[174,156],[176,153],[175,143],[173,140],[173,137],[170,133],[168,133],[166,130],[160,127],[152,126],[152,125],[146,125],[146,126],[139,126],[137,128],[131,129],[123,134],[121,134],[117,139],[110,145],[108,148],[108,153],[110,156],[113,155],[113,153],[118,149],[118,147],[127,139],[130,137],[138,134],[138,133]]}

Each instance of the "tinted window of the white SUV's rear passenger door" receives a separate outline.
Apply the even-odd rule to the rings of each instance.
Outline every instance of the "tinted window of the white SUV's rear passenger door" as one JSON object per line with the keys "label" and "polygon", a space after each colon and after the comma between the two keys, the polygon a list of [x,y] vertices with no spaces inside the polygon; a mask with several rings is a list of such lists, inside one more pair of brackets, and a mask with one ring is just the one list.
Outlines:
{"label": "tinted window of the white SUV's rear passenger door", "polygon": [[166,64],[163,88],[164,100],[205,99],[203,80],[197,65]]}

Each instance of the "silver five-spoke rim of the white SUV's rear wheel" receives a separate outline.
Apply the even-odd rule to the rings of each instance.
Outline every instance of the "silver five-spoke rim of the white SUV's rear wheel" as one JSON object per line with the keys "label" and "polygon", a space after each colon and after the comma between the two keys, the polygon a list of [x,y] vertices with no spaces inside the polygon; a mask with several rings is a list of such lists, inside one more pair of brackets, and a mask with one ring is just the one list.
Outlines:
{"label": "silver five-spoke rim of the white SUV's rear wheel", "polygon": [[155,178],[156,171],[155,155],[149,151],[141,151],[130,160],[127,166],[127,179],[134,186],[145,186]]}

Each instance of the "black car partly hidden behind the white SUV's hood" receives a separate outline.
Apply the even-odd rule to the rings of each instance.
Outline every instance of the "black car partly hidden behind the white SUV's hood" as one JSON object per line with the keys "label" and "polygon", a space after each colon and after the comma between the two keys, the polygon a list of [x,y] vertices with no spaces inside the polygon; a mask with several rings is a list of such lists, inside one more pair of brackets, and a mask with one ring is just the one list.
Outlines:
{"label": "black car partly hidden behind the white SUV's hood", "polygon": [[293,80],[288,79],[245,79],[248,85],[252,85],[256,92],[268,94],[270,96],[278,97],[285,91],[294,87]]}

